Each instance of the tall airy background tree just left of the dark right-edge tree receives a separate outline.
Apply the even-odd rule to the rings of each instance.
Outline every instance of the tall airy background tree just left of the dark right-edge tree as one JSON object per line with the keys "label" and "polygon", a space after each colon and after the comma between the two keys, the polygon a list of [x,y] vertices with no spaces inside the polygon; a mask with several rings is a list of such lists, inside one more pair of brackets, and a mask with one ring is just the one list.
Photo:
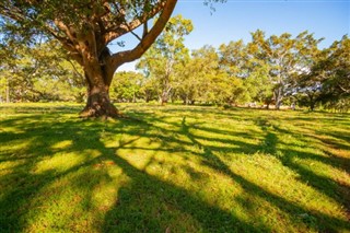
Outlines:
{"label": "tall airy background tree just left of the dark right-edge tree", "polygon": [[307,32],[300,33],[295,38],[289,33],[265,38],[261,31],[252,35],[256,58],[269,63],[273,100],[279,109],[283,98],[294,91],[295,78],[310,70],[313,54],[317,53],[317,45],[322,39],[315,39]]}

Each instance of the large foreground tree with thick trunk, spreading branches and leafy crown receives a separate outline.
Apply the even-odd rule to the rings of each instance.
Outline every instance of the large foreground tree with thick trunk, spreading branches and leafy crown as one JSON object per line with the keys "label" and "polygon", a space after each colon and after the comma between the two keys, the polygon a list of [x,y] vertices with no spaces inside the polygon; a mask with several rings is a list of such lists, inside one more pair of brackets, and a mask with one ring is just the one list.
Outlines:
{"label": "large foreground tree with thick trunk, spreading branches and leafy crown", "polygon": [[[118,116],[110,104],[109,85],[118,67],[140,58],[165,27],[177,0],[5,0],[0,1],[4,35],[32,38],[38,34],[57,39],[83,67],[88,103],[81,116]],[[156,16],[149,27],[148,22]],[[142,35],[135,31],[143,27]],[[112,54],[108,45],[131,33],[138,45]],[[34,37],[33,37],[34,36]],[[34,40],[33,40],[34,39]]]}

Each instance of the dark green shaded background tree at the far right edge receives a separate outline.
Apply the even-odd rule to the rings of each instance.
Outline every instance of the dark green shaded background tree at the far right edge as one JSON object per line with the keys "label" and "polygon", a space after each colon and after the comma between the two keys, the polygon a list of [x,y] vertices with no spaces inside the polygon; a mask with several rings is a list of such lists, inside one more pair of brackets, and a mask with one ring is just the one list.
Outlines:
{"label": "dark green shaded background tree at the far right edge", "polygon": [[[308,96],[310,108],[317,103],[349,108],[350,100],[350,39],[343,36],[314,57],[313,66],[300,80]],[[317,88],[317,89],[316,89]],[[339,104],[338,104],[339,102]]]}

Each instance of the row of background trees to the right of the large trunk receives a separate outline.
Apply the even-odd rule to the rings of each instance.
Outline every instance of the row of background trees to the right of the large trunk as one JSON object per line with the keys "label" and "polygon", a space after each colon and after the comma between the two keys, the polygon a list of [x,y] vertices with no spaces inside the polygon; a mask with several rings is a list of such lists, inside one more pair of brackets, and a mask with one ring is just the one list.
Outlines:
{"label": "row of background trees to the right of the large trunk", "polygon": [[345,35],[327,48],[308,32],[252,40],[206,45],[189,51],[184,36],[191,22],[173,18],[140,59],[141,73],[115,74],[115,101],[182,101],[184,104],[253,105],[280,109],[283,105],[348,110],[350,107],[350,40]]}

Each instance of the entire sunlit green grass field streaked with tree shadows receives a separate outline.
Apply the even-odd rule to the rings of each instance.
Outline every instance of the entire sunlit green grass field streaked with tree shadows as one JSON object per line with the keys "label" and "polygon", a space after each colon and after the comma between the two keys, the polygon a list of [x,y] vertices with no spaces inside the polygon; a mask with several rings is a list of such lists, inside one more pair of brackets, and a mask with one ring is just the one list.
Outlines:
{"label": "entire sunlit green grass field streaked with tree shadows", "polygon": [[350,115],[0,105],[0,232],[350,232]]}

